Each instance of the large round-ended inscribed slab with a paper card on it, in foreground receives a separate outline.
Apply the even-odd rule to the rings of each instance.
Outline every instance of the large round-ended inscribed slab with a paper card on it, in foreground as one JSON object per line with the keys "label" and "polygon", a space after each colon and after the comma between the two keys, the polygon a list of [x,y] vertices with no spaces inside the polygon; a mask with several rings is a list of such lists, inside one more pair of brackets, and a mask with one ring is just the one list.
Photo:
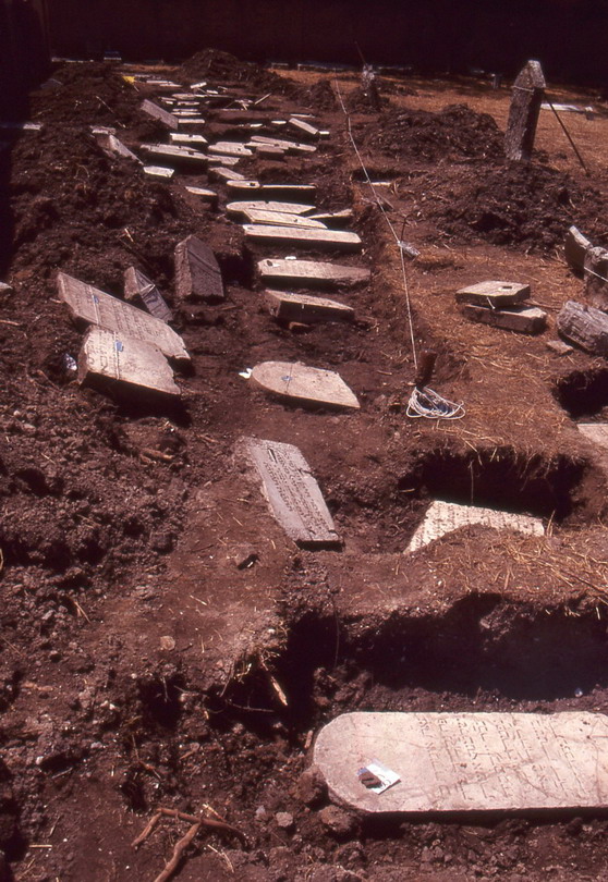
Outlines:
{"label": "large round-ended inscribed slab with a paper card on it, in foreground", "polygon": [[608,716],[345,713],[314,762],[335,801],[369,813],[605,808]]}

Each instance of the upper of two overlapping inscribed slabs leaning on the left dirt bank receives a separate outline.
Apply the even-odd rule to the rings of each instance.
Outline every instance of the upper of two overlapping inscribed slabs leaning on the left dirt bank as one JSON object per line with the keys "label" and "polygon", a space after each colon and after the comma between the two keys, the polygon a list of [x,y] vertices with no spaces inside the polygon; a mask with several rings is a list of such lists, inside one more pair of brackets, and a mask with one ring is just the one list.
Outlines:
{"label": "upper of two overlapping inscribed slabs leaning on the left dirt bank", "polygon": [[181,336],[160,319],[64,272],[57,274],[57,286],[76,321],[149,343],[168,358],[190,360]]}

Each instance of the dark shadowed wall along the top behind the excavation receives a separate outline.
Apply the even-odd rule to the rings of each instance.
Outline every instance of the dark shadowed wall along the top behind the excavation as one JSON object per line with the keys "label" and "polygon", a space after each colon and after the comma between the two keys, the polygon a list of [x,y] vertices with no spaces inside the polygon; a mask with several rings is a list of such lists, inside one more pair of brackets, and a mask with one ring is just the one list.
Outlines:
{"label": "dark shadowed wall along the top behind the excavation", "polygon": [[552,78],[604,84],[608,0],[48,0],[56,54],[118,49],[183,59],[207,46],[241,58],[470,66],[512,74],[539,58]]}

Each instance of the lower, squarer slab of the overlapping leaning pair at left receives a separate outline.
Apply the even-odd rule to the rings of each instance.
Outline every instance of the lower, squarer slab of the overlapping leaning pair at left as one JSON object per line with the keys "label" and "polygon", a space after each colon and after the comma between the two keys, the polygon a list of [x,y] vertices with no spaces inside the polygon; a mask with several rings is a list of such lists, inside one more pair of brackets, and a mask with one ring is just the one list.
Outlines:
{"label": "lower, squarer slab of the overlapping leaning pair at left", "polygon": [[159,348],[95,326],[88,329],[78,355],[78,380],[88,385],[118,381],[163,395],[180,394]]}

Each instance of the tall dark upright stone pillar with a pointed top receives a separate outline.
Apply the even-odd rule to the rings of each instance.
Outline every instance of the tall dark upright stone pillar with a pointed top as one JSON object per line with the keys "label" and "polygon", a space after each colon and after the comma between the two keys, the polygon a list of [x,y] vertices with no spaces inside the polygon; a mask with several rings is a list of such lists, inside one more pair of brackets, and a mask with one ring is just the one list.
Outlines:
{"label": "tall dark upright stone pillar with a pointed top", "polygon": [[513,98],[504,136],[504,152],[508,159],[527,161],[531,158],[545,87],[540,62],[528,61],[513,85]]}

